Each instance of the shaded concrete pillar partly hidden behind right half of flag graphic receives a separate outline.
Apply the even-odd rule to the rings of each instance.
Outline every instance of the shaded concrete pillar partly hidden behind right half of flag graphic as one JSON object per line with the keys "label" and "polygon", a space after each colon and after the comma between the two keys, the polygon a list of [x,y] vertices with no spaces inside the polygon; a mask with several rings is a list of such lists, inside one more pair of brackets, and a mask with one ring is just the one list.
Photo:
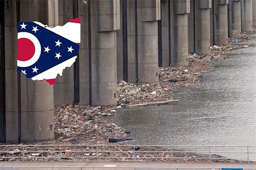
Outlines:
{"label": "shaded concrete pillar partly hidden behind right half of flag graphic", "polygon": [[[59,25],[69,22],[73,17],[72,0],[58,0]],[[63,70],[62,76],[58,76],[53,85],[54,104],[73,103],[73,65]]]}

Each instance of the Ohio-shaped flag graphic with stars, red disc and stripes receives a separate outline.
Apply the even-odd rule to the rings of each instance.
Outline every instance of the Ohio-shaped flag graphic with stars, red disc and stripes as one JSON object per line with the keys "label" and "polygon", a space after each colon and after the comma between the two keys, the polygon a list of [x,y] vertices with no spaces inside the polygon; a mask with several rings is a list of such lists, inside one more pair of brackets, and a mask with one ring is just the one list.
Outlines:
{"label": "Ohio-shaped flag graphic with stars, red disc and stripes", "polygon": [[54,84],[65,67],[75,63],[80,43],[80,18],[49,28],[39,22],[17,25],[17,70],[32,80]]}

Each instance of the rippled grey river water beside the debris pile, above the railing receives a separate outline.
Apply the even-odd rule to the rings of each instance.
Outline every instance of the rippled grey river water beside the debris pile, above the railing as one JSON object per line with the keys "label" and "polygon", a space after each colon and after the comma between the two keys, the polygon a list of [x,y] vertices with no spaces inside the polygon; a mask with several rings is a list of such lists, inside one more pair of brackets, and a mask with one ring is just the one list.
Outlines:
{"label": "rippled grey river water beside the debris pile, above the railing", "polygon": [[[256,46],[256,35],[246,43]],[[256,146],[256,47],[213,63],[200,83],[173,94],[179,103],[125,108],[116,123],[139,145]],[[256,159],[256,158],[255,158]]]}

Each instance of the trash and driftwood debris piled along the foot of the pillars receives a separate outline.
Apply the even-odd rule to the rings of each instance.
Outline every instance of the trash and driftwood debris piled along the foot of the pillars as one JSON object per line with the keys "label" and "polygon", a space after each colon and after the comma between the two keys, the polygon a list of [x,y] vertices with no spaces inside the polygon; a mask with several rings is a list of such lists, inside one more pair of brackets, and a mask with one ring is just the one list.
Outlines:
{"label": "trash and driftwood debris piled along the foot of the pillars", "polygon": [[[239,42],[245,42],[250,33],[243,32]],[[238,45],[230,39],[226,46],[212,46],[208,55],[189,55],[188,65],[159,68],[159,83],[118,83],[118,104],[112,107],[65,105],[55,108],[55,137],[52,144],[108,144],[109,138],[125,138],[125,130],[114,124],[111,117],[116,110],[134,104],[172,100],[178,88],[200,81],[200,74],[213,71],[211,63],[223,60],[224,52],[241,49],[251,44]]]}

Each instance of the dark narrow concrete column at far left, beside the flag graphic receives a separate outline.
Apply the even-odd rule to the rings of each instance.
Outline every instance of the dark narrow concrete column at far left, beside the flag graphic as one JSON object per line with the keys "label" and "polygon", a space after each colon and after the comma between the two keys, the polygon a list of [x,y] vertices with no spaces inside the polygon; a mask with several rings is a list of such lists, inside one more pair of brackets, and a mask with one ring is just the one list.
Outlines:
{"label": "dark narrow concrete column at far left, beside the flag graphic", "polygon": [[6,142],[18,142],[16,14],[16,1],[11,0],[4,6]]}

